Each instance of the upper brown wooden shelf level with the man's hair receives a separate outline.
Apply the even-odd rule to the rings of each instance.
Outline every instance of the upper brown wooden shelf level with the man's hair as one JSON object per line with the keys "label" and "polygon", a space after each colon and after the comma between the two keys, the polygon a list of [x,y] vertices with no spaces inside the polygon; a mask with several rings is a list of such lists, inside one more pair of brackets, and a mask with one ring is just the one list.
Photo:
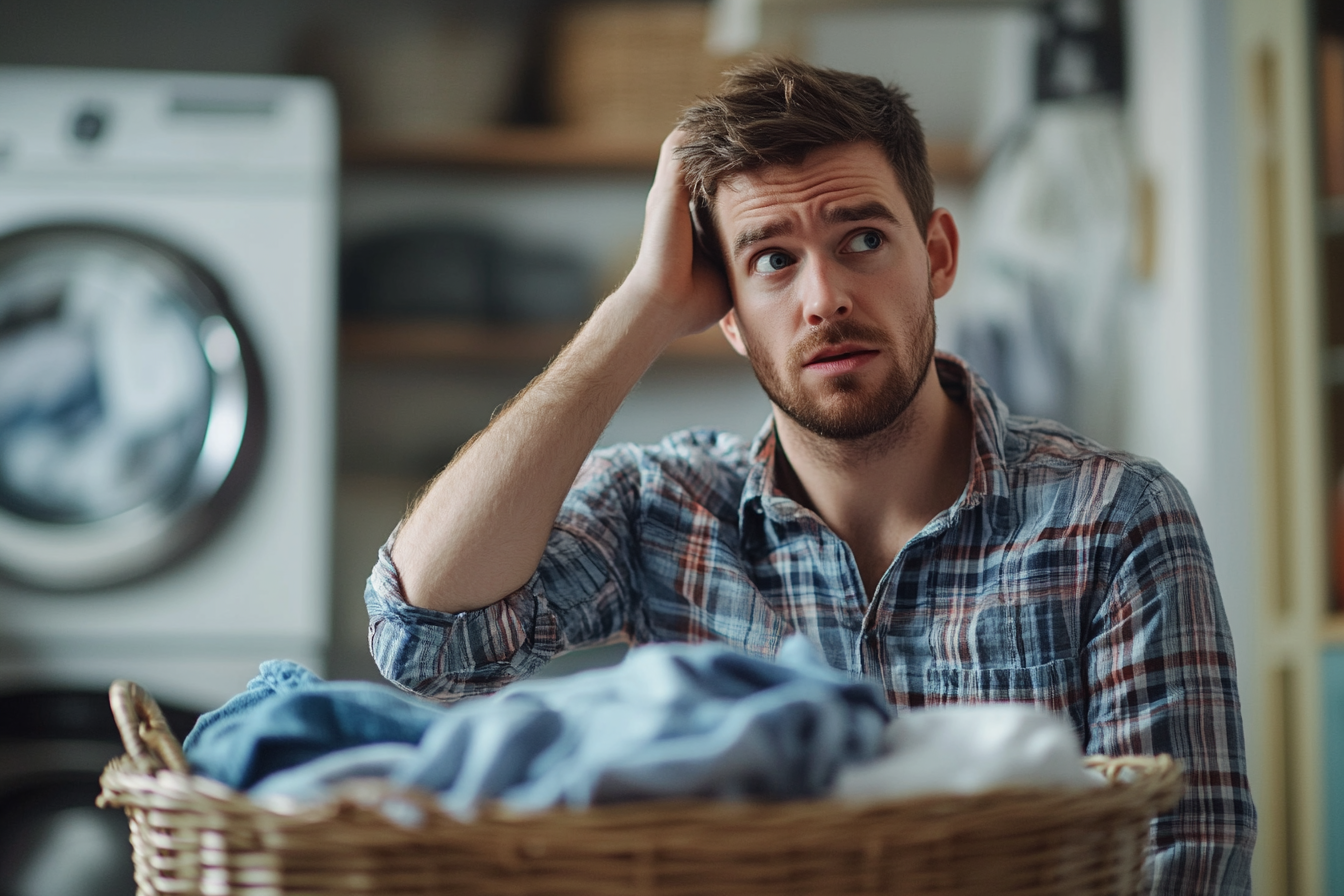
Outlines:
{"label": "upper brown wooden shelf level with the man's hair", "polygon": [[[351,168],[493,168],[555,172],[652,172],[663,133],[575,128],[500,128],[444,134],[352,133],[344,138]],[[929,144],[938,180],[970,181],[980,164],[960,142]]]}

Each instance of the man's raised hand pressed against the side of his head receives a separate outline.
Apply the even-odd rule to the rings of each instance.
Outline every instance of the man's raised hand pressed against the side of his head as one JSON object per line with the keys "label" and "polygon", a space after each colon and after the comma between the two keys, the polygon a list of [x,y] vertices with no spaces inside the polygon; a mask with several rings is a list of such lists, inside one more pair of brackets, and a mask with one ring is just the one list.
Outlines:
{"label": "man's raised hand pressed against the side of his head", "polygon": [[[613,300],[648,302],[673,336],[689,336],[718,322],[732,306],[723,271],[695,249],[691,191],[676,148],[685,136],[673,130],[659,150],[659,168],[644,206],[640,257]],[[612,300],[607,300],[612,301]]]}

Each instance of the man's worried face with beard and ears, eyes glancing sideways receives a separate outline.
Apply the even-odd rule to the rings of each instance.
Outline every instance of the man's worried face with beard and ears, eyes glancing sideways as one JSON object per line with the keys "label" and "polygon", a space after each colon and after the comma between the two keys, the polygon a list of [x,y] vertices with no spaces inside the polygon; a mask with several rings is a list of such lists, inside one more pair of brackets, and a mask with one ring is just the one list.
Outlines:
{"label": "man's worried face with beard and ears, eyes glancing sideways", "polygon": [[[933,365],[933,301],[956,270],[950,216],[935,212],[926,244],[872,144],[738,175],[715,201],[734,297],[724,332],[770,400],[824,438],[892,426]],[[933,243],[946,254],[949,230],[935,283]]]}

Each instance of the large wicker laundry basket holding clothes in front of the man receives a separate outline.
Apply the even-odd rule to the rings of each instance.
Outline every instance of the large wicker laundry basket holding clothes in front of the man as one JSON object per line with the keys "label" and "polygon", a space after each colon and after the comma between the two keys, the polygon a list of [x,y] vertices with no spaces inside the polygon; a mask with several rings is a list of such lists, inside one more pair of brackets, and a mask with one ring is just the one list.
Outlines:
{"label": "large wicker laundry basket holding clothes in front of the man", "polygon": [[[1169,756],[1093,762],[1110,786],[874,806],[657,802],[462,823],[419,798],[403,827],[352,798],[290,813],[192,776],[153,700],[112,686],[128,755],[101,806],[130,818],[138,892],[602,896],[1138,893],[1153,815],[1180,797]],[[1130,770],[1132,775],[1121,775]],[[1129,783],[1121,780],[1125,778]]]}

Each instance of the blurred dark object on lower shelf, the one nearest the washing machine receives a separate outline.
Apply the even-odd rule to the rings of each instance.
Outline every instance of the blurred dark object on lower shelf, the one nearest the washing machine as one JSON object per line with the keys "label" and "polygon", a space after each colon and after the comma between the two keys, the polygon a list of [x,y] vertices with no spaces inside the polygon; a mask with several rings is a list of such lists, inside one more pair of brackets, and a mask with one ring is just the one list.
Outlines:
{"label": "blurred dark object on lower shelf, the one nearest the washing machine", "polygon": [[341,313],[485,320],[499,251],[491,234],[454,224],[383,231],[345,250]]}

